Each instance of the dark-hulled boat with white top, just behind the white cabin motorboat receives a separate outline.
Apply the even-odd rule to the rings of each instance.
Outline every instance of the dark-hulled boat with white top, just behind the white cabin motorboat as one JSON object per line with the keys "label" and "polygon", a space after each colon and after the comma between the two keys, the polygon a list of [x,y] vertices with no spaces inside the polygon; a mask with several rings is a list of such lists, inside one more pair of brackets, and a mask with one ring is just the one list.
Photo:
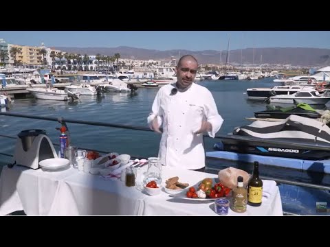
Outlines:
{"label": "dark-hulled boat with white top, just behind the white cabin motorboat", "polygon": [[[305,86],[307,87],[307,86]],[[303,89],[304,86],[273,86],[272,88],[253,88],[246,89],[249,99],[267,99],[275,95],[292,95]],[[307,87],[315,89],[315,87]],[[322,91],[324,92],[324,91]],[[322,93],[321,92],[321,93]]]}

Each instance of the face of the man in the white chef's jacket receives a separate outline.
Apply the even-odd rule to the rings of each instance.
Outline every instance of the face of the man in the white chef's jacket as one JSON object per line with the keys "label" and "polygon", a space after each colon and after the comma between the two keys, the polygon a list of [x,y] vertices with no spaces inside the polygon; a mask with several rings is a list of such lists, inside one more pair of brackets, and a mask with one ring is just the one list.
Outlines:
{"label": "face of the man in the white chef's jacket", "polygon": [[177,84],[179,88],[186,89],[194,82],[197,73],[198,64],[191,58],[181,60],[180,64],[176,67],[177,71]]}

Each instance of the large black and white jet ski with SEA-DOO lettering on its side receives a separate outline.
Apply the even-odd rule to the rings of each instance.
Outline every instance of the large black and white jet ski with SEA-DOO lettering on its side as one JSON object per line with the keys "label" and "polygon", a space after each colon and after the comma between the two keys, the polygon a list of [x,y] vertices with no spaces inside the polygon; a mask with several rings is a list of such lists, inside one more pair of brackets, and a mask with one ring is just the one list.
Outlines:
{"label": "large black and white jet ski with SEA-DOO lettering on its side", "polygon": [[330,158],[330,128],[316,119],[290,115],[282,121],[254,121],[217,137],[216,150],[305,160]]}

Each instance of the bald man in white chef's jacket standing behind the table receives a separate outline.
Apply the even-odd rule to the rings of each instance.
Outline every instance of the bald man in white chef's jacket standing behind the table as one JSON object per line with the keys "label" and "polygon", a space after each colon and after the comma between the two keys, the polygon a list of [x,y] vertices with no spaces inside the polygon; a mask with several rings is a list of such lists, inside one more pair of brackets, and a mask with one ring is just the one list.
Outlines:
{"label": "bald man in white chef's jacket standing behind the table", "polygon": [[212,93],[193,83],[197,67],[191,55],[179,59],[177,82],[159,89],[147,119],[152,130],[162,133],[158,154],[162,165],[174,169],[203,171],[203,133],[214,137],[223,123]]}

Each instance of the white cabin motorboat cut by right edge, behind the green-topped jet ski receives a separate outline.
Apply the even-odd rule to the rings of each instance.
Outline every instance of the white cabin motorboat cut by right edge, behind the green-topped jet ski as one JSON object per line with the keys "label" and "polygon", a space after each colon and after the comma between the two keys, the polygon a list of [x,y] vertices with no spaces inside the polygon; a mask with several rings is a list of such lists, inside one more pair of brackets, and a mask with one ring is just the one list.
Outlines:
{"label": "white cabin motorboat cut by right edge, behind the green-topped jet ski", "polygon": [[285,104],[297,104],[297,103],[306,103],[306,104],[318,104],[325,105],[330,100],[329,91],[325,93],[319,93],[315,89],[303,88],[297,93],[292,95],[275,95],[269,97],[270,103],[285,103]]}

